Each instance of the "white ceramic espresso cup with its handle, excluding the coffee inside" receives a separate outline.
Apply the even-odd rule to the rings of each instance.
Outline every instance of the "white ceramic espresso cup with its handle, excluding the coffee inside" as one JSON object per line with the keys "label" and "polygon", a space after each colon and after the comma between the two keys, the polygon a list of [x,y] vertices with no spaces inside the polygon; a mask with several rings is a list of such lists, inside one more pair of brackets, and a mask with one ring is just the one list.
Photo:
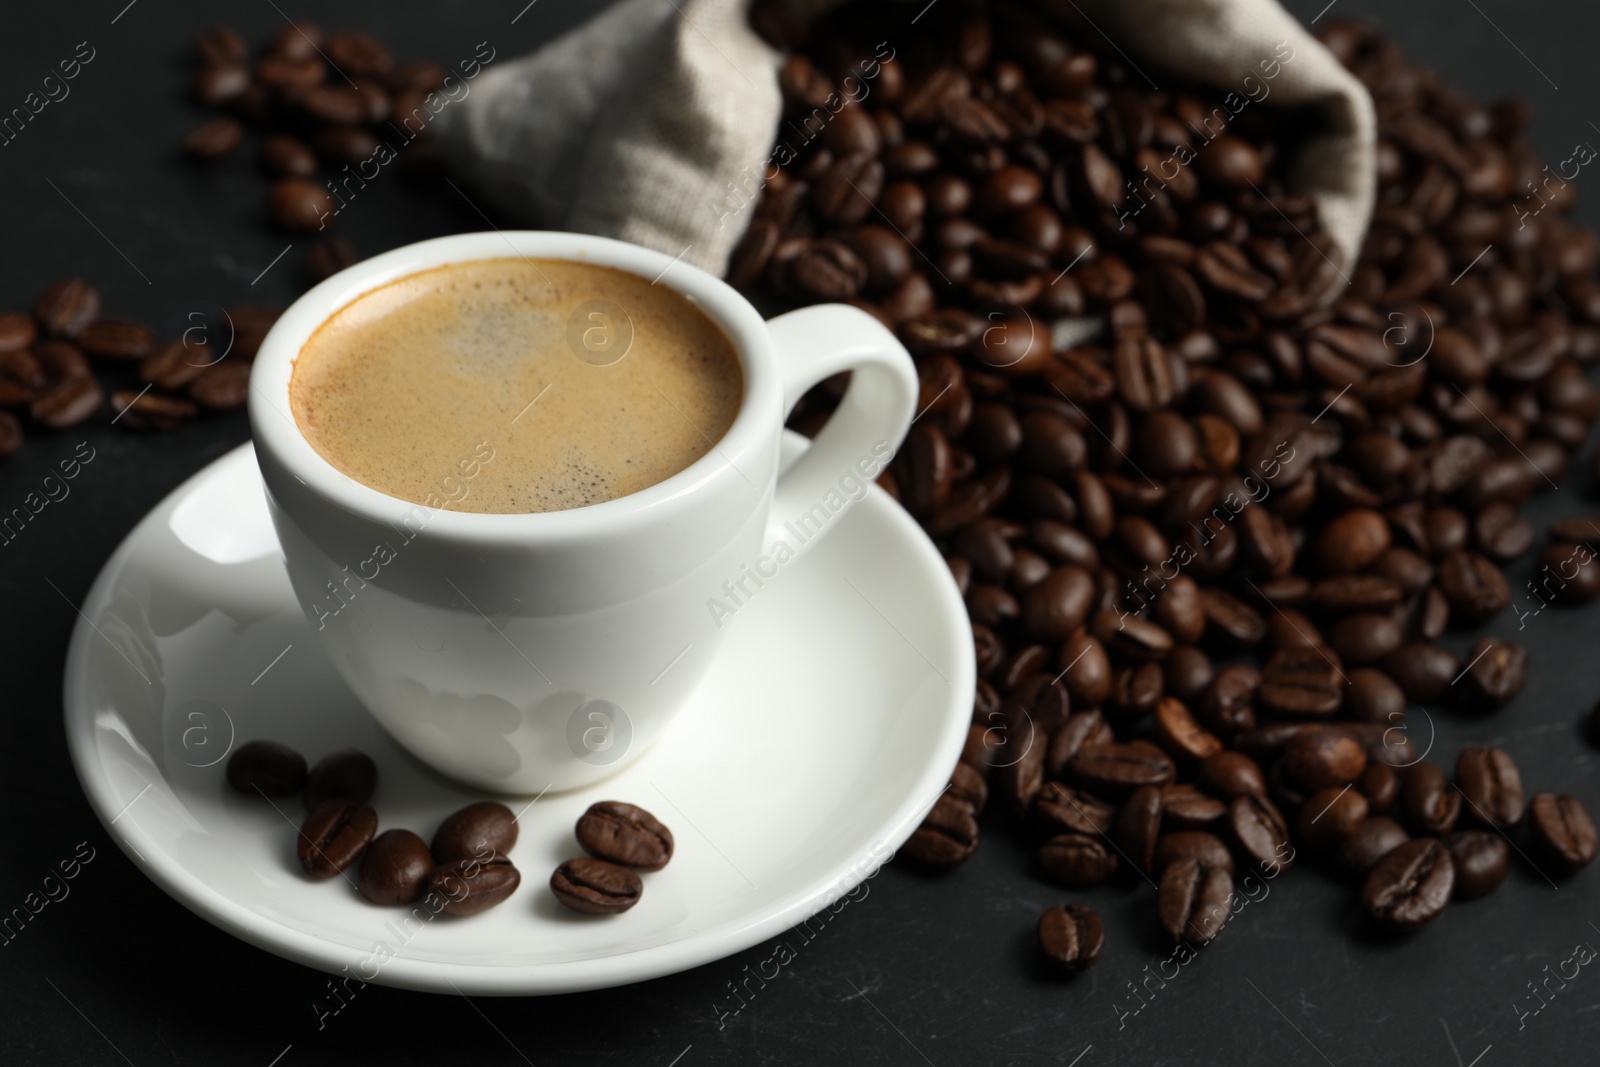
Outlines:
{"label": "white ceramic espresso cup with its handle, excluding the coffee inside", "polygon": [[[430,509],[323,459],[290,408],[294,360],[317,326],[397,278],[507,256],[614,267],[694,302],[744,368],[726,435],[646,490],[528,515]],[[779,478],[784,418],[840,371],[854,374],[838,411]],[[741,606],[786,581],[782,568],[866,494],[915,400],[910,357],[866,312],[829,304],[763,322],[726,283],[670,256],[547,232],[442,237],[342,270],[272,326],[250,378],[272,522],[334,665],[413,755],[504,793],[587,785],[645,752]],[[462,458],[458,482],[469,486],[470,470]]]}

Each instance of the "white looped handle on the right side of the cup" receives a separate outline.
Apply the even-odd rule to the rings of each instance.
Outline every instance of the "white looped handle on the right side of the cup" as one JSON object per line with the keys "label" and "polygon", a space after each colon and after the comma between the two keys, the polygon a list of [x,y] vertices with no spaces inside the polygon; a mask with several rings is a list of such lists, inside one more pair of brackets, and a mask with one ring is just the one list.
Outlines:
{"label": "white looped handle on the right side of the cup", "polygon": [[917,406],[917,368],[883,323],[848,304],[802,307],[766,326],[778,349],[786,419],[806,389],[853,371],[838,410],[778,480],[763,544],[782,541],[798,555],[859,499],[853,485],[870,483],[899,450]]}

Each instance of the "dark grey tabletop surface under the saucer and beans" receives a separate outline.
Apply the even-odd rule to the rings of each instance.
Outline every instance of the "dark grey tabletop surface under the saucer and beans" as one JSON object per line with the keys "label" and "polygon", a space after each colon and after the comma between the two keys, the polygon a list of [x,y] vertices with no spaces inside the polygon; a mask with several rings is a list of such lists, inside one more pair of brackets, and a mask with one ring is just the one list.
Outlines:
{"label": "dark grey tabletop surface under the saucer and beans", "polygon": [[[950,0],[954,2],[954,0]],[[1314,19],[1326,0],[1296,0]],[[70,96],[0,147],[0,307],[24,307],[43,283],[85,275],[112,314],[168,323],[194,302],[286,304],[306,242],[283,250],[258,218],[261,182],[246,160],[195,171],[174,142],[197,122],[182,98],[186,42],[227,19],[259,40],[278,3],[94,0],[13,5],[0,30],[0,114],[88,42],[94,59]],[[349,0],[293,14],[382,35],[402,58],[450,61],[488,40],[520,54],[598,5],[574,0],[411,3]],[[1406,50],[1482,96],[1517,93],[1534,109],[1546,157],[1597,139],[1600,10],[1530,0],[1352,0],[1325,18],[1379,14]],[[285,5],[285,10],[290,10]],[[514,24],[514,16],[522,16]],[[85,51],[86,54],[86,51]],[[1579,218],[1600,224],[1579,176]],[[496,219],[496,222],[507,222]],[[363,253],[483,229],[454,194],[403,190],[386,176],[339,218]],[[3,1064],[1507,1064],[1594,1062],[1600,973],[1544,982],[1574,945],[1600,945],[1600,870],[1552,888],[1517,865],[1494,896],[1398,941],[1357,936],[1349,889],[1291,870],[1245,907],[1202,958],[1165,985],[1166,957],[1149,891],[1078,894],[1101,910],[1099,968],[1050,981],[1034,923],[1062,894],[1029,877],[1003,825],[965,869],[926,878],[890,865],[870,893],[758,987],[736,1014],[728,984],[771,955],[760,945],[672,977],[573,997],[434,997],[370,985],[318,1027],[323,976],[229,937],[160,893],[112,845],[78,790],[61,728],[61,669],[88,590],[117,542],[165,493],[243,442],[242,413],[179,434],[133,435],[98,424],[32,440],[0,464],[0,512],[21,504],[88,440],[98,458],[19,537],[0,547],[0,913],[80,841],[94,859],[0,945]],[[1586,462],[1579,467],[1587,469]],[[1592,504],[1587,475],[1536,501],[1550,517]],[[1520,587],[1526,563],[1514,576]],[[1600,811],[1595,750],[1578,725],[1600,694],[1600,605],[1544,611],[1515,633],[1528,689],[1498,717],[1435,715],[1435,755],[1469,742],[1509,749],[1536,789],[1571,792]],[[1453,635],[1466,648],[1472,635]],[[802,944],[803,942],[803,944]],[[1549,965],[1550,971],[1544,968]],[[1570,968],[1568,968],[1570,969]],[[1136,997],[1138,993],[1138,997]],[[1542,1005],[1538,1014],[1522,1014]],[[278,1057],[278,1059],[275,1059]]]}

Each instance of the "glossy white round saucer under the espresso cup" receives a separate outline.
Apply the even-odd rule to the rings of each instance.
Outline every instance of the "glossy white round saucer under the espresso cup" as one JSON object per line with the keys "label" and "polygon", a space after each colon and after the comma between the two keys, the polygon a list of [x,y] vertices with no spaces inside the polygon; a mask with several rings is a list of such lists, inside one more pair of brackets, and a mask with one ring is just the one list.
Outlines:
{"label": "glossy white round saucer under the espresso cup", "polygon": [[[803,438],[786,435],[786,459],[802,450]],[[128,534],[82,614],[67,656],[67,742],[122,849],[186,907],[269,952],[446,993],[637,982],[806,918],[917,827],[960,753],[974,685],[949,571],[874,488],[738,611],[722,657],[654,750],[597,787],[526,808],[515,896],[408,926],[406,909],[368,904],[350,880],[299,872],[298,798],[277,811],[224,782],[230,745],[269,737],[310,761],[349,745],[371,753],[381,829],[429,838],[482,798],[410,758],[334,673],[290,590],[248,445]],[[630,912],[578,915],[547,880],[582,854],[573,824],[603,798],[653,811],[677,854],[645,875]]]}

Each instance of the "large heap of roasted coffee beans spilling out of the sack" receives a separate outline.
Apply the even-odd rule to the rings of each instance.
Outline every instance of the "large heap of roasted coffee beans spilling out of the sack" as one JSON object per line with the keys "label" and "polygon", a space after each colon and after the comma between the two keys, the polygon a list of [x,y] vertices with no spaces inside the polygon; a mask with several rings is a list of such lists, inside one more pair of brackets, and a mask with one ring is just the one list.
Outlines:
{"label": "large heap of roasted coffee beans spilling out of the sack", "polygon": [[[1387,928],[1493,889],[1510,838],[1549,875],[1592,861],[1578,800],[1525,803],[1498,749],[1451,777],[1406,733],[1408,705],[1482,715],[1522,689],[1520,645],[1462,662],[1435,641],[1510,605],[1501,566],[1534,541],[1517,509],[1600,413],[1600,245],[1563,216],[1526,109],[1326,24],[1379,120],[1378,206],[1346,262],[1286,181],[1318,115],[1152,88],[1018,8],[923,14],[805,27],[757,6],[790,50],[786,114],[728,272],[861,307],[922,378],[880,483],[944,552],[981,680],[902,854],[968,859],[994,792],[1046,878],[1131,867],[1190,945],[1218,936],[1235,872],[1298,854]],[[814,432],[842,387],[792,424]],[[1600,590],[1597,536],[1552,530],[1550,600]],[[1102,942],[1078,904],[1038,937],[1067,971]]]}

